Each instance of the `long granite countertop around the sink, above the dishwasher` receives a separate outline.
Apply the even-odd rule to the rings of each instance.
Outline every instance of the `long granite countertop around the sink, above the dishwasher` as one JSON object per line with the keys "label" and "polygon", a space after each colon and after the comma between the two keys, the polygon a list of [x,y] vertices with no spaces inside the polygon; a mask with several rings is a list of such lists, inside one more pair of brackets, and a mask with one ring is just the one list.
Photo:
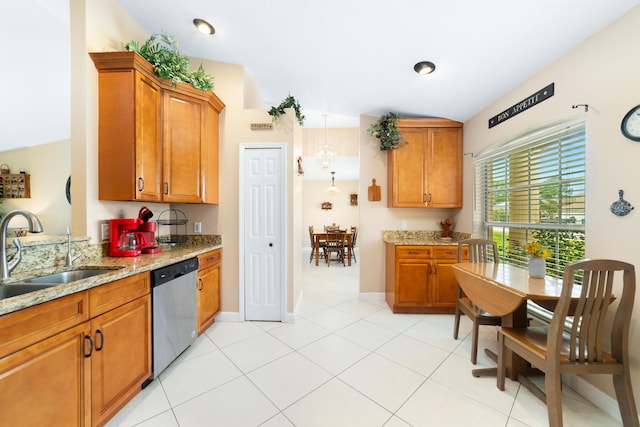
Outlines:
{"label": "long granite countertop around the sink, above the dishwasher", "polygon": [[[99,276],[87,279],[76,280],[71,283],[52,286],[47,289],[18,295],[11,298],[0,300],[0,315],[11,313],[32,305],[40,304],[46,301],[70,295],[75,292],[81,292],[114,280],[132,276],[137,273],[155,270],[176,262],[184,261],[189,258],[196,257],[202,253],[219,249],[222,244],[212,244],[211,242],[202,242],[191,244],[188,246],[174,246],[163,248],[163,251],[157,254],[139,255],[137,257],[108,257],[97,256],[81,263],[74,263],[73,269],[90,269],[104,268],[114,269],[113,272],[101,274]],[[38,276],[56,273],[68,270],[68,268],[49,268],[38,270]],[[33,272],[11,275],[10,278],[2,281],[4,283],[19,282],[30,277],[34,277]]]}

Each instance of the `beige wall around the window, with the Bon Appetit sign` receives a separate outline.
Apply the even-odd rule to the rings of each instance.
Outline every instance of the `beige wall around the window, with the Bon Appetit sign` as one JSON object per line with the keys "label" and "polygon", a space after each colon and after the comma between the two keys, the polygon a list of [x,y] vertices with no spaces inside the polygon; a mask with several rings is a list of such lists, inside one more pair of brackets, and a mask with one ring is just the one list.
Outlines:
{"label": "beige wall around the window, with the Bon Appetit sign", "polygon": [[[640,239],[637,209],[624,217],[609,211],[618,199],[640,207],[640,144],[620,133],[620,121],[626,112],[640,104],[640,7],[628,12],[603,31],[546,67],[525,83],[501,97],[494,104],[465,123],[464,151],[479,153],[492,144],[505,141],[527,129],[546,123],[582,116],[587,135],[586,256],[615,258],[640,266]],[[508,58],[520,60],[523,58]],[[499,66],[499,65],[496,65]],[[528,95],[555,82],[555,95],[541,104],[492,128],[490,117],[521,101]],[[589,111],[573,109],[574,104],[589,104]],[[456,217],[460,228],[471,230],[472,161],[465,156],[464,207]],[[636,293],[631,340],[631,372],[636,401],[640,397],[640,310]],[[612,394],[611,378],[589,379]],[[614,406],[614,414],[617,408]]]}

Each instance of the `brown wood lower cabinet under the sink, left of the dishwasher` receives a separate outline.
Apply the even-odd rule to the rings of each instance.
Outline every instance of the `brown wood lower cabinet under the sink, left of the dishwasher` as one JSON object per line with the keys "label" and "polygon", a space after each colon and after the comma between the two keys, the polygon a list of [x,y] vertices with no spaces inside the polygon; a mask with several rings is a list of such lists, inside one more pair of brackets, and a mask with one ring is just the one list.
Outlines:
{"label": "brown wood lower cabinet under the sink, left of the dishwasher", "polygon": [[104,425],[151,376],[149,273],[1,316],[0,336],[2,425]]}

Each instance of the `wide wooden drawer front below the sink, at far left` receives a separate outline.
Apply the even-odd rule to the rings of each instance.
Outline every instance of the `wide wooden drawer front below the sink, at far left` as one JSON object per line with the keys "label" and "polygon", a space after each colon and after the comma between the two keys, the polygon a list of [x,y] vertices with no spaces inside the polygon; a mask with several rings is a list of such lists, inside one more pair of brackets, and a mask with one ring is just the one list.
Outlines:
{"label": "wide wooden drawer front below the sink, at far left", "polygon": [[88,292],[77,292],[0,317],[0,358],[89,319]]}

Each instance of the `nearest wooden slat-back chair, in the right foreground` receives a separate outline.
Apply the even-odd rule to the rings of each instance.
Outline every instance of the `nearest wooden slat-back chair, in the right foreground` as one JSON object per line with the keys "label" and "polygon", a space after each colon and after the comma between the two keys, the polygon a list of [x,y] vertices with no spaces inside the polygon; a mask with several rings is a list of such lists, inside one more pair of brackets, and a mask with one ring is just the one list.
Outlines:
{"label": "nearest wooden slat-back chair, in the right foreground", "polygon": [[[574,284],[578,271],[583,272],[582,286]],[[607,308],[612,301],[613,279],[622,272],[622,295],[612,310],[611,352],[603,348]],[[619,274],[618,274],[619,276]],[[572,301],[574,288],[579,300]],[[506,349],[510,349],[545,373],[545,392],[549,425],[562,426],[561,375],[608,374],[613,385],[622,422],[638,426],[631,374],[629,371],[629,327],[636,290],[633,265],[615,260],[585,260],[569,264],[564,271],[562,293],[549,326],[499,328],[498,388],[504,390]],[[572,321],[566,326],[567,316]],[[545,393],[526,377],[519,380],[545,399]]]}

